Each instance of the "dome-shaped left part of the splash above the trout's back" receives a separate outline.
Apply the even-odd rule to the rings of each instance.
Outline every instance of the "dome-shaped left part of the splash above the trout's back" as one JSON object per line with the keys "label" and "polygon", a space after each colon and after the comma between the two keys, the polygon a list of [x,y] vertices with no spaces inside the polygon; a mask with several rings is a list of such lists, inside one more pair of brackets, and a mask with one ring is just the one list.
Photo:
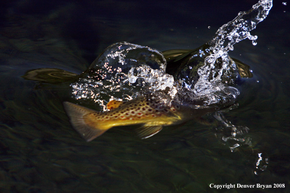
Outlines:
{"label": "dome-shaped left part of the splash above the trout's back", "polygon": [[120,42],[106,48],[70,86],[76,99],[94,101],[103,110],[110,99],[130,100],[144,91],[170,90],[172,99],[177,93],[175,82],[165,69],[166,59],[161,52]]}

